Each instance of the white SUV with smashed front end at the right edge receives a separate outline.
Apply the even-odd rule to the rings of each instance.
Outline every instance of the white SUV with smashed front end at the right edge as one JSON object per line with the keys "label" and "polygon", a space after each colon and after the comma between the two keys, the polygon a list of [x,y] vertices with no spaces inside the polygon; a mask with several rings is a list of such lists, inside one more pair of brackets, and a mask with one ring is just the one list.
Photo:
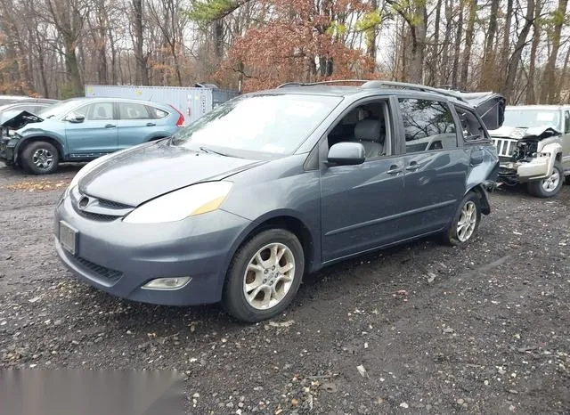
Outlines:
{"label": "white SUV with smashed front end at the right edge", "polygon": [[507,107],[503,125],[489,134],[501,162],[500,183],[526,183],[541,198],[558,194],[570,175],[570,106]]}

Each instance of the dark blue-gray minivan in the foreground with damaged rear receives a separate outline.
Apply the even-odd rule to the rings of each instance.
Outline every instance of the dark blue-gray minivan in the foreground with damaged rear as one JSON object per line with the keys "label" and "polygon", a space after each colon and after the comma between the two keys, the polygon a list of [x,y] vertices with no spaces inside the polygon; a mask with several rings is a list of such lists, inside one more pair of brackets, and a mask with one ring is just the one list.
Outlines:
{"label": "dark blue-gray minivan in the foreground with damaged rear", "polygon": [[[81,280],[163,305],[281,313],[305,273],[489,214],[504,99],[422,85],[282,85],[96,159],[55,211]],[[485,121],[485,124],[484,122]]]}

